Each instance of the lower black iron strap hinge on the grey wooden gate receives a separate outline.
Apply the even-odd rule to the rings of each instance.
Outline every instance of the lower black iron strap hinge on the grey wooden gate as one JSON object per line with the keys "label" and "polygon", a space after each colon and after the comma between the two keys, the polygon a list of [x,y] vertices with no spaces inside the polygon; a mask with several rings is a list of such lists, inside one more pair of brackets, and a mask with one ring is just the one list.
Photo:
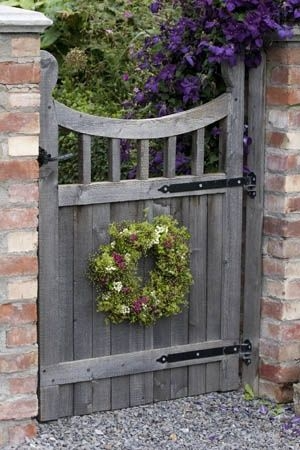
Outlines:
{"label": "lower black iron strap hinge on the grey wooden gate", "polygon": [[213,356],[224,356],[238,354],[247,366],[251,364],[252,344],[246,339],[242,344],[227,345],[224,347],[206,348],[191,352],[171,353],[162,355],[157,362],[162,364],[186,361],[189,359],[212,358]]}

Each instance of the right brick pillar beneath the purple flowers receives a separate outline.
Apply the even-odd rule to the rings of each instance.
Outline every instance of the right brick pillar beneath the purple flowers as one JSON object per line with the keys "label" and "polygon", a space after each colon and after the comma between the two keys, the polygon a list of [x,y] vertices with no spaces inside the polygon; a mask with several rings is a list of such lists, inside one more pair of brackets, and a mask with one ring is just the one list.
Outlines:
{"label": "right brick pillar beneath the purple flowers", "polygon": [[300,33],[267,52],[260,394],[300,380]]}

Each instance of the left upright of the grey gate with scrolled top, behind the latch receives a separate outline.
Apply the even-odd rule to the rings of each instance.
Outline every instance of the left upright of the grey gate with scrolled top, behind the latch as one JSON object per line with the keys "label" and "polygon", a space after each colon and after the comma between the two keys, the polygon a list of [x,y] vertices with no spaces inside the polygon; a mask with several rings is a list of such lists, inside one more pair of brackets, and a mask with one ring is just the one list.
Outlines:
{"label": "left upright of the grey gate with scrolled top, behind the latch", "polygon": [[[47,52],[41,59],[40,146],[52,156],[58,154],[58,125],[54,113],[52,89],[57,80],[57,63]],[[57,163],[40,170],[39,182],[39,350],[40,364],[60,361],[58,292],[58,196]],[[42,377],[42,373],[41,373]],[[40,420],[55,419],[59,414],[59,390],[40,390]],[[54,412],[56,408],[56,413]],[[55,415],[56,414],[56,415]]]}

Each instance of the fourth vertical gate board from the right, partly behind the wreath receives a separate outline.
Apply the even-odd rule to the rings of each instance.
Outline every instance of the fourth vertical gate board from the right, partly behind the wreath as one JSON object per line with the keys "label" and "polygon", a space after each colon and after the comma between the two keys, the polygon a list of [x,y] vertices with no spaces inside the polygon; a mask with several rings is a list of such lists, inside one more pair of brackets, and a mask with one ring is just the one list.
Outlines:
{"label": "fourth vertical gate board from the right, partly behind the wreath", "polygon": [[[153,203],[153,216],[170,214],[169,200],[156,200]],[[164,318],[153,326],[153,347],[168,347],[171,345],[171,320]],[[153,374],[153,400],[169,400],[171,398],[171,372],[160,370]]]}

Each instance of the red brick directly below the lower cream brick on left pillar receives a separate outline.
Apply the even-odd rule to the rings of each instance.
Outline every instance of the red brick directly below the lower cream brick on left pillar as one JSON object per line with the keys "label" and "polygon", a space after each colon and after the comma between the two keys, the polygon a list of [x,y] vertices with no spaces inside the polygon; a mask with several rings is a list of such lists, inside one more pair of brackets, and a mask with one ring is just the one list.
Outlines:
{"label": "red brick directly below the lower cream brick on left pillar", "polygon": [[8,256],[0,258],[0,276],[36,275],[36,256]]}

